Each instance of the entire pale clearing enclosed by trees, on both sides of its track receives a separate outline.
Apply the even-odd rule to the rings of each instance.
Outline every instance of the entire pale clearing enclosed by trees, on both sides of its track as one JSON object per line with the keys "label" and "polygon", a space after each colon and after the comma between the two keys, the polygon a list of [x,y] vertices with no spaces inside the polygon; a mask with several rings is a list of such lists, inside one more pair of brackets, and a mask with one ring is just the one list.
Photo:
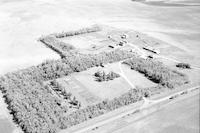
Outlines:
{"label": "entire pale clearing enclosed by trees, on both sides of its track", "polygon": [[[94,73],[97,71],[120,73],[119,63],[111,63],[102,67],[93,67],[87,71],[74,73],[70,76],[58,79],[63,86],[72,92],[83,105],[98,103],[104,99],[113,99],[121,94],[128,92],[132,87],[122,76],[111,81],[97,82]],[[131,70],[128,66],[122,65],[125,76],[136,87],[146,88],[155,87],[153,83],[137,71]],[[66,82],[68,84],[66,84]],[[88,99],[88,100],[87,100]]]}

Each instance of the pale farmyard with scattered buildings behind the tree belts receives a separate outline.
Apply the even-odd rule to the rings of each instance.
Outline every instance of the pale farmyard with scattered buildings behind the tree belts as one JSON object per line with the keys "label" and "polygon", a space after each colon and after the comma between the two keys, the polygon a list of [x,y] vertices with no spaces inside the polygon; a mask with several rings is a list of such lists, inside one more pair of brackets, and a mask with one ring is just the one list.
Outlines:
{"label": "pale farmyard with scattered buildings behind the tree belts", "polygon": [[[127,37],[122,38],[124,35]],[[61,57],[67,56],[69,51],[82,54],[98,54],[113,49],[131,50],[137,47],[134,51],[143,54],[143,56],[154,57],[154,55],[161,53],[161,56],[166,58],[188,62],[192,65],[198,64],[198,59],[186,52],[186,49],[170,45],[134,30],[93,25],[69,32],[52,33],[49,36],[40,38],[40,41],[60,54]],[[55,36],[55,38],[53,39],[52,36]],[[153,49],[153,51],[149,49]]]}

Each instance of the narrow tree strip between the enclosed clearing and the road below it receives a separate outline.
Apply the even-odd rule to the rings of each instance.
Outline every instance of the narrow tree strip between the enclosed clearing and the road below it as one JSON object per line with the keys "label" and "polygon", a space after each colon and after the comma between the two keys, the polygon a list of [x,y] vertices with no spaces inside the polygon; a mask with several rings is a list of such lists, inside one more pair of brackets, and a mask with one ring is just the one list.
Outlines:
{"label": "narrow tree strip between the enclosed clearing and the road below it", "polygon": [[101,103],[74,111],[61,119],[61,129],[77,125],[109,111],[135,103],[141,100],[143,96],[144,91],[142,89],[131,89],[129,92],[113,100],[104,100]]}

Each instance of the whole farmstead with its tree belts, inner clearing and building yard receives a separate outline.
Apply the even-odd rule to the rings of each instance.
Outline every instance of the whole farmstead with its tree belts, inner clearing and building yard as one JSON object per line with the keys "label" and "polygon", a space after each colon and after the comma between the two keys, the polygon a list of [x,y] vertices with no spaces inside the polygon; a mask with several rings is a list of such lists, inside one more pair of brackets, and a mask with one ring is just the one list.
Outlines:
{"label": "whole farmstead with its tree belts, inner clearing and building yard", "polygon": [[[106,44],[102,38],[96,40],[94,37],[90,37],[99,32],[104,34],[112,44]],[[136,38],[130,38],[130,36]],[[81,45],[84,45],[84,41],[88,44],[93,40],[101,41],[98,47],[103,50],[95,49],[94,51],[98,52],[85,52],[93,51],[93,47],[74,45],[73,41],[64,42],[62,40],[62,38],[68,37],[71,40],[75,37],[75,41],[78,37],[80,41],[83,41],[83,43],[79,42]],[[37,106],[38,110],[45,108],[49,111],[48,114],[51,114],[45,116],[44,119],[52,129],[43,129],[35,123],[27,123],[22,119],[23,117],[14,115],[14,119],[22,125],[22,130],[30,132],[32,130],[30,124],[35,127],[35,132],[67,129],[120,107],[141,101],[143,97],[150,97],[155,90],[163,92],[163,88],[170,90],[190,83],[187,74],[179,72],[178,69],[168,68],[167,65],[158,61],[158,57],[162,57],[162,53],[158,49],[163,47],[162,44],[148,41],[149,37],[144,34],[141,36],[143,39],[140,38],[140,43],[138,43],[138,37],[140,35],[134,31],[127,32],[98,25],[40,37],[39,41],[57,52],[61,59],[47,60],[37,66],[22,70],[22,72],[17,71],[16,74],[8,73],[0,80],[2,92],[9,101],[19,98],[9,97],[19,89],[17,91],[19,95],[24,95],[29,99],[34,98],[39,104],[43,101],[42,104],[45,106],[42,108]],[[147,40],[144,41],[145,37]],[[155,47],[153,47],[154,43]],[[152,57],[150,57],[150,53]],[[154,59],[154,57],[156,58]],[[13,79],[9,80],[10,77]],[[26,79],[27,88],[23,87],[21,90],[20,86],[24,86],[21,84],[24,79]],[[17,82],[19,85],[15,84],[15,80],[20,80]],[[38,90],[38,87],[41,89]],[[8,88],[13,91],[5,91]],[[30,93],[26,93],[26,91],[30,91]],[[39,99],[34,96],[35,91],[40,91],[37,93]],[[45,97],[39,96],[44,93]],[[18,101],[28,102],[20,103],[21,106],[34,104],[32,100]],[[49,105],[53,110],[48,109]],[[23,107],[13,108],[12,105],[11,111],[21,113],[20,110],[23,109]],[[44,113],[41,111],[41,114],[45,115]],[[39,115],[36,115],[38,122]],[[48,119],[57,121],[56,124],[59,127],[54,127],[55,122],[48,121]]]}

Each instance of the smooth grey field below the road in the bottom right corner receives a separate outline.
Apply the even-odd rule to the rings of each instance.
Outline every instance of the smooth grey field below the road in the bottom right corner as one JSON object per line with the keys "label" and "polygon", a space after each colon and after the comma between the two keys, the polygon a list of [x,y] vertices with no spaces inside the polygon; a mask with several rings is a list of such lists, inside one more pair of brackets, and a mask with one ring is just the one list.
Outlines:
{"label": "smooth grey field below the road in the bottom right corner", "polygon": [[113,133],[198,133],[199,93],[164,108]]}

